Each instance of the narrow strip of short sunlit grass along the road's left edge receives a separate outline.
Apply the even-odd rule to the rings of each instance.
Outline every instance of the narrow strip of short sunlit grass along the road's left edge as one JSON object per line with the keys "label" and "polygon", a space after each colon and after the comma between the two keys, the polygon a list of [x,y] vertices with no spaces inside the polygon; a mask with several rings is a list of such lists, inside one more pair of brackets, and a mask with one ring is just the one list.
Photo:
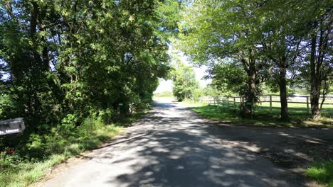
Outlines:
{"label": "narrow strip of short sunlit grass along the road's left edge", "polygon": [[[60,164],[65,159],[81,154],[85,150],[95,148],[101,145],[102,142],[112,140],[122,132],[122,129],[122,127],[117,125],[105,125],[85,137],[80,137],[76,140],[64,140],[66,142],[65,147],[54,149],[57,152],[63,150],[61,154],[53,154],[51,157],[38,162],[22,160],[8,166],[0,164],[0,186],[28,186],[31,183],[40,181],[45,176],[46,169]],[[53,146],[63,145],[58,144]]]}

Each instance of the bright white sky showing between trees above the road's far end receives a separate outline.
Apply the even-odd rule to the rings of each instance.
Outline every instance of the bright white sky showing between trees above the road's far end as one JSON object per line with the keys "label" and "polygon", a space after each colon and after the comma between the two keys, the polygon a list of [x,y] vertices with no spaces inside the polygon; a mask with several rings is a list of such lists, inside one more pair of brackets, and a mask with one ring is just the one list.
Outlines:
{"label": "bright white sky showing between trees above the road's far end", "polygon": [[[169,50],[169,53],[171,52],[171,50],[173,50],[173,49],[171,48]],[[211,83],[211,80],[203,79],[203,77],[206,75],[207,67],[205,67],[205,66],[203,66],[203,67],[193,67],[191,65],[191,62],[189,62],[189,60],[187,59],[186,56],[184,56],[183,53],[181,53],[181,52],[175,52],[175,53],[179,55],[179,58],[181,59],[181,62],[184,62],[184,64],[187,64],[187,65],[189,65],[190,67],[192,67],[194,69],[194,72],[196,74],[196,81],[199,81],[199,84],[200,84],[201,88],[203,88],[207,84]],[[154,93],[161,93],[163,91],[172,91],[173,86],[174,85],[172,84],[171,80],[159,79],[159,86],[157,87],[156,91],[154,91]]]}

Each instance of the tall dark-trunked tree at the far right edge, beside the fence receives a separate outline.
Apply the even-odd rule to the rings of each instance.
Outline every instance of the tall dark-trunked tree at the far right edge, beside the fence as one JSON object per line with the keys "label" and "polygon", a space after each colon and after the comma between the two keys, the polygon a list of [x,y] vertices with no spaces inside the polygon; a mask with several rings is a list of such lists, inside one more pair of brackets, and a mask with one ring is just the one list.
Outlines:
{"label": "tall dark-trunked tree at the far right edge, beside the fence", "polygon": [[[329,77],[332,77],[332,26],[333,26],[333,4],[329,1],[317,1],[307,12],[310,13],[310,102],[312,118],[319,117],[320,94],[325,94],[329,87]],[[307,47],[305,47],[306,49]],[[322,91],[323,90],[323,91]],[[324,98],[323,98],[324,100]]]}

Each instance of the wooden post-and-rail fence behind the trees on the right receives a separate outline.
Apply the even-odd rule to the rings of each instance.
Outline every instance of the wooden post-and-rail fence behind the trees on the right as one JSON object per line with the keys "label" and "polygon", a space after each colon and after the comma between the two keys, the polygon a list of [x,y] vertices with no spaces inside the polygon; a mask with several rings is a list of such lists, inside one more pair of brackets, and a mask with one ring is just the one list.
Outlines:
{"label": "wooden post-and-rail fence behind the trees on the right", "polygon": [[[199,101],[202,103],[208,103],[214,106],[221,106],[227,108],[238,108],[239,103],[245,102],[243,96],[205,96],[200,97]],[[319,99],[319,104],[322,102],[322,98]],[[272,113],[273,103],[280,103],[279,95],[265,95],[261,96],[257,103],[270,103],[270,113]],[[287,103],[299,103],[307,106],[307,113],[310,113],[310,96],[290,96],[287,98]],[[324,105],[333,105],[333,96],[326,96]]]}

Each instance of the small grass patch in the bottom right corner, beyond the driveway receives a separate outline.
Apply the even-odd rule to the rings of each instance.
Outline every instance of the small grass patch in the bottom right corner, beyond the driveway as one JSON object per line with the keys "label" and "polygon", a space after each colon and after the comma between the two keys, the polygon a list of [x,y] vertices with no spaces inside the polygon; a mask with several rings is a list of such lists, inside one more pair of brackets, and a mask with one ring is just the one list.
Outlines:
{"label": "small grass patch in the bottom right corner, beyond the driveway", "polygon": [[307,169],[307,176],[319,183],[333,187],[333,160],[315,162]]}

